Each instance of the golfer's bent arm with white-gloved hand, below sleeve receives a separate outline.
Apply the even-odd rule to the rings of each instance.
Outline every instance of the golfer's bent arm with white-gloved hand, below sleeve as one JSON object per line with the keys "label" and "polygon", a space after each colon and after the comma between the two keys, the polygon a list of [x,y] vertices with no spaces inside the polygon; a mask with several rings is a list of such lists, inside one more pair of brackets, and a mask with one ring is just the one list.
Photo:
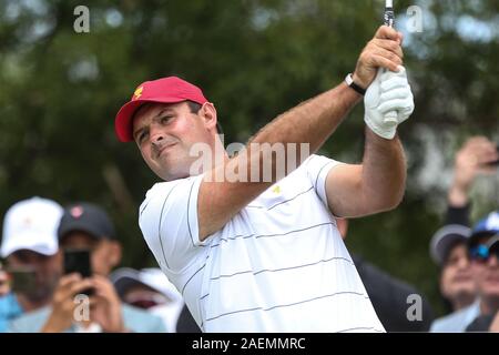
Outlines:
{"label": "golfer's bent arm with white-gloved hand, below sleeve", "polygon": [[[404,196],[406,161],[396,129],[414,110],[405,69],[378,72],[364,103],[367,128],[363,163],[339,165],[326,179],[327,203],[337,216],[355,217],[391,210]],[[397,112],[397,124],[385,120],[389,111]]]}

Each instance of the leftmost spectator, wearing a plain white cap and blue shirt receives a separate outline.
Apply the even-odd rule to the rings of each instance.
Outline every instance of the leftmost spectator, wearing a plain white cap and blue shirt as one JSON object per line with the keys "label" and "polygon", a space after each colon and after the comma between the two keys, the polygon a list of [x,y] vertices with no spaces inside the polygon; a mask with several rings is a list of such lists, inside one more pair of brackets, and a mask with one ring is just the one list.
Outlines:
{"label": "leftmost spectator, wearing a plain white cap and blue shirt", "polygon": [[62,207],[47,199],[17,202],[3,220],[0,254],[0,332],[26,312],[48,305],[61,274],[57,229]]}

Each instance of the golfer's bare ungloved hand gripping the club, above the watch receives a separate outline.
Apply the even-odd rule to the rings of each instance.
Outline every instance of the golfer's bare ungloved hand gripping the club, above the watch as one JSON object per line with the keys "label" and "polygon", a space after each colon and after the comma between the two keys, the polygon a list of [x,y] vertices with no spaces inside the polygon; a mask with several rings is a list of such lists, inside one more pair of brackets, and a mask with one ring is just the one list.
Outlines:
{"label": "golfer's bare ungloved hand gripping the club, above the watch", "polygon": [[353,75],[354,82],[367,89],[378,68],[397,71],[403,65],[403,34],[390,27],[381,26],[360,53]]}

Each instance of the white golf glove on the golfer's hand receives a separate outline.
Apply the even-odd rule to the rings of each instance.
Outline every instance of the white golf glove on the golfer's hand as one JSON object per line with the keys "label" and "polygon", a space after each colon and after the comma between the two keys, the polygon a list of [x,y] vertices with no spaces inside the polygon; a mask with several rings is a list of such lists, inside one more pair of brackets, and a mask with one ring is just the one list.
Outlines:
{"label": "white golf glove on the golfer's hand", "polygon": [[406,69],[401,65],[398,69],[398,72],[379,69],[364,97],[364,121],[373,132],[387,140],[394,139],[397,125],[414,111]]}

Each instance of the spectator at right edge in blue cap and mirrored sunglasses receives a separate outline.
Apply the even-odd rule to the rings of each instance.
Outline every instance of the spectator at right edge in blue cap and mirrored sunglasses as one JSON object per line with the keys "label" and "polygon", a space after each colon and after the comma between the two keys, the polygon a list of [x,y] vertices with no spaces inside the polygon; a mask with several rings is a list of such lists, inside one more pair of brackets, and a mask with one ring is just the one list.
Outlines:
{"label": "spectator at right edge in blue cap and mirrored sunglasses", "polygon": [[499,211],[491,212],[473,230],[469,242],[471,271],[477,282],[480,314],[466,331],[499,331]]}

